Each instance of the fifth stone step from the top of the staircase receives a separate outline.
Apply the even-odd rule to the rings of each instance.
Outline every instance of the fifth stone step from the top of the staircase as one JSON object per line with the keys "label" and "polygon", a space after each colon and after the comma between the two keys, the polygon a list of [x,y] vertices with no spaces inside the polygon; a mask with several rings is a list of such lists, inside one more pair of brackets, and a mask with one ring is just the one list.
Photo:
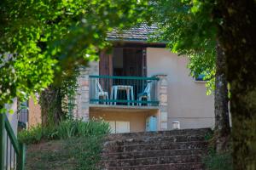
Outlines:
{"label": "fifth stone step from the top of the staircase", "polygon": [[127,166],[142,166],[167,163],[185,163],[185,162],[201,162],[201,155],[191,156],[158,156],[137,159],[122,159],[112,161],[102,161],[104,167],[127,167]]}

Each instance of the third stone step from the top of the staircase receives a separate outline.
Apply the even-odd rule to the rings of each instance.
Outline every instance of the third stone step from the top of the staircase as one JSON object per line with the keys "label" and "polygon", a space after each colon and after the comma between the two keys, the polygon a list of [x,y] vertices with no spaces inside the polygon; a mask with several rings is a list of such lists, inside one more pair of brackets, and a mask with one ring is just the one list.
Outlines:
{"label": "third stone step from the top of the staircase", "polygon": [[170,142],[160,144],[129,144],[129,145],[111,145],[103,149],[104,152],[130,152],[143,150],[177,150],[177,149],[202,149],[207,147],[207,142]]}

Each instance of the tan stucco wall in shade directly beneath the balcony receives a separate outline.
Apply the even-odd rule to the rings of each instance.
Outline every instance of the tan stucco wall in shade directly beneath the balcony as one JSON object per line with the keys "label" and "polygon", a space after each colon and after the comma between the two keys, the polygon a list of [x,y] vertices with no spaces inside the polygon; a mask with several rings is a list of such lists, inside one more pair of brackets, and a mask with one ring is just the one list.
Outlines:
{"label": "tan stucco wall in shade directly beneath the balcony", "polygon": [[131,133],[144,132],[148,116],[156,116],[157,111],[90,111],[90,118],[103,118],[105,121],[130,122]]}

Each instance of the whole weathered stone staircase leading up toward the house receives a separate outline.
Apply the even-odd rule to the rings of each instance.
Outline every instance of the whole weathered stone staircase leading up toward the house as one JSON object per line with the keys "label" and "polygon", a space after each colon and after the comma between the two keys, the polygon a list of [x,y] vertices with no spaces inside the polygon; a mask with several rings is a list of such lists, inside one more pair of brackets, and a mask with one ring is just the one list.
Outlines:
{"label": "whole weathered stone staircase leading up toward the house", "polygon": [[110,134],[102,151],[104,170],[202,170],[209,128]]}

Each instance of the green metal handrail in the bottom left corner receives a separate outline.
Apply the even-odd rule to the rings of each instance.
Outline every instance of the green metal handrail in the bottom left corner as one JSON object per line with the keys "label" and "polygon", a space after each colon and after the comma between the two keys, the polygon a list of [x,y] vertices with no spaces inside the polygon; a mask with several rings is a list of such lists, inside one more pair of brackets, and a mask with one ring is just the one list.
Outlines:
{"label": "green metal handrail in the bottom left corner", "polygon": [[[5,131],[7,135],[5,135]],[[24,170],[25,169],[25,144],[21,144],[18,142],[18,139],[15,137],[15,133],[9,123],[9,120],[5,114],[0,114],[0,169],[4,169],[4,161],[5,158],[5,141],[6,137],[9,136],[11,144],[15,149],[15,153],[17,155],[17,170]],[[8,166],[8,165],[6,165]]]}

